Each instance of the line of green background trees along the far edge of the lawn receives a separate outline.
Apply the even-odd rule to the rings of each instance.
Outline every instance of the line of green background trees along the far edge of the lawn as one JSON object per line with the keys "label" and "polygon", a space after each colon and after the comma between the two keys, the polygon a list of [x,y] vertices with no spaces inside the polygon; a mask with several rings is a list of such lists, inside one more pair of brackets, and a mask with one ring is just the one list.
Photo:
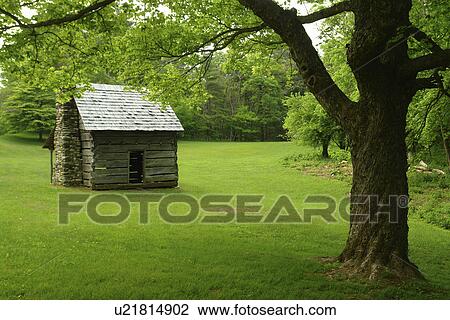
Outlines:
{"label": "line of green background trees along the far edge of the lawn", "polygon": [[[356,81],[345,61],[352,36],[350,16],[333,17],[320,26],[320,50],[337,85],[358,98]],[[417,44],[412,44],[413,46]],[[447,83],[448,73],[443,73]],[[3,74],[0,89],[0,133],[33,132],[39,138],[54,126],[56,90]],[[98,68],[90,82],[124,84],[113,71]],[[203,99],[172,99],[185,133],[183,138],[207,141],[297,141],[317,147],[323,158],[334,145],[349,150],[342,126],[308,93],[290,53],[274,49],[240,55],[217,52],[199,85]],[[412,154],[446,153],[450,165],[448,96],[438,89],[419,92],[408,112],[408,150]]]}

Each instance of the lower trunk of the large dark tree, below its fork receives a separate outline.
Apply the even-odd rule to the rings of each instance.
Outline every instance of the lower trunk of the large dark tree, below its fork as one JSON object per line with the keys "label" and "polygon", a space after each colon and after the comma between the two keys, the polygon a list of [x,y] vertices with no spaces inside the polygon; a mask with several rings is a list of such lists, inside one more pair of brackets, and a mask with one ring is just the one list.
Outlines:
{"label": "lower trunk of the large dark tree, below its fork", "polygon": [[370,111],[355,123],[351,134],[350,231],[339,257],[341,270],[371,279],[420,277],[408,258],[405,127],[409,101],[381,100],[366,102]]}

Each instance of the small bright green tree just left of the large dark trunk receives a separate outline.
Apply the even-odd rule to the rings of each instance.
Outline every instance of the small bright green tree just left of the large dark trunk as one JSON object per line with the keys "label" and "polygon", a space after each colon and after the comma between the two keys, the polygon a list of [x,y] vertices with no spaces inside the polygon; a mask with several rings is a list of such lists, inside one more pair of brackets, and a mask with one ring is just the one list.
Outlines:
{"label": "small bright green tree just left of the large dark trunk", "polygon": [[288,137],[312,146],[322,147],[322,157],[329,158],[328,148],[332,140],[339,147],[344,136],[341,127],[333,120],[311,94],[292,95],[284,101],[289,108],[284,127]]}

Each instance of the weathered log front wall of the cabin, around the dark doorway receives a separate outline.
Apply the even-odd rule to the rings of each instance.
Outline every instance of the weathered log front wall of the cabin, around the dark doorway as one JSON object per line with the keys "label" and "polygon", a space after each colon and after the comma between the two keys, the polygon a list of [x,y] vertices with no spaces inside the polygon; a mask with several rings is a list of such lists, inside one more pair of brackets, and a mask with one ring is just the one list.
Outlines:
{"label": "weathered log front wall of the cabin, around the dark doorway", "polygon": [[[85,185],[97,190],[178,185],[176,133],[94,131],[83,137]],[[142,184],[129,183],[129,154],[132,151],[144,152]]]}

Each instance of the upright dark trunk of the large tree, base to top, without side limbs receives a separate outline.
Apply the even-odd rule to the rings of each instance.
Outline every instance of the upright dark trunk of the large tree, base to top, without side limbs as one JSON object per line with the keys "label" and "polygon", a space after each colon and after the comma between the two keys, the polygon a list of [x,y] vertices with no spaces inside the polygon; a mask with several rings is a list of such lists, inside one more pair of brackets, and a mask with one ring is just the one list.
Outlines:
{"label": "upright dark trunk of the large tree, base to top, without side limbs", "polygon": [[[354,0],[355,32],[347,51],[360,93],[349,127],[353,163],[350,231],[341,270],[369,279],[420,278],[408,257],[406,114],[415,94],[402,27],[410,0]],[[380,27],[383,26],[383,27]],[[395,47],[394,46],[395,43]],[[370,61],[370,63],[369,63]]]}

